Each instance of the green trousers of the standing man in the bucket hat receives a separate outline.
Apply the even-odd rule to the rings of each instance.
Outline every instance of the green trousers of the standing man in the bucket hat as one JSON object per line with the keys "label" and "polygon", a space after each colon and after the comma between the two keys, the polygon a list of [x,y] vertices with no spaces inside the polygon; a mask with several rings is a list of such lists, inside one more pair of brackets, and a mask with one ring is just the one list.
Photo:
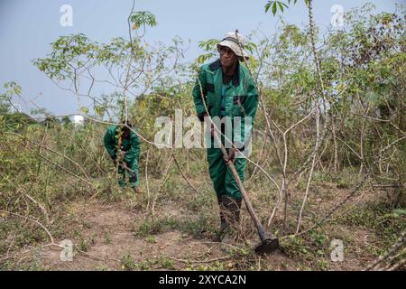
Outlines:
{"label": "green trousers of the standing man in the bucket hat", "polygon": [[[224,161],[223,153],[219,148],[208,148],[208,171],[217,197],[228,196],[233,199],[241,199],[241,191],[235,181],[234,175]],[[245,158],[235,158],[235,171],[244,183]]]}

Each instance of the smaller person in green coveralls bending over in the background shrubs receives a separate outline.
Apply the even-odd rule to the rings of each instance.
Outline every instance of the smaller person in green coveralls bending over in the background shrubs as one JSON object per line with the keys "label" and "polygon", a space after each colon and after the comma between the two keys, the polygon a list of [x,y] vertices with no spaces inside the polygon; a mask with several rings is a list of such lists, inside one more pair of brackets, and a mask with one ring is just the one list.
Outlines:
{"label": "smaller person in green coveralls bending over in the background shrubs", "polygon": [[140,158],[140,139],[131,130],[131,124],[124,126],[110,126],[104,137],[107,153],[115,166],[118,164],[120,175],[118,184],[125,188],[126,175],[129,177],[130,187],[138,192],[140,180],[138,177],[138,161]]}

